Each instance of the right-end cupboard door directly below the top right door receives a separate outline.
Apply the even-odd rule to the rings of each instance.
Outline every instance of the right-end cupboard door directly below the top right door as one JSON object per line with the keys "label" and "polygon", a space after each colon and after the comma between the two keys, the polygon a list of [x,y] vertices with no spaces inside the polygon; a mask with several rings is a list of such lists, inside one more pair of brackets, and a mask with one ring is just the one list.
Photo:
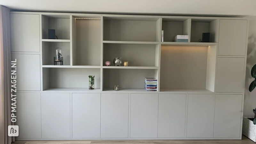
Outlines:
{"label": "right-end cupboard door directly below the top right door", "polygon": [[218,58],[216,92],[243,92],[244,58]]}

